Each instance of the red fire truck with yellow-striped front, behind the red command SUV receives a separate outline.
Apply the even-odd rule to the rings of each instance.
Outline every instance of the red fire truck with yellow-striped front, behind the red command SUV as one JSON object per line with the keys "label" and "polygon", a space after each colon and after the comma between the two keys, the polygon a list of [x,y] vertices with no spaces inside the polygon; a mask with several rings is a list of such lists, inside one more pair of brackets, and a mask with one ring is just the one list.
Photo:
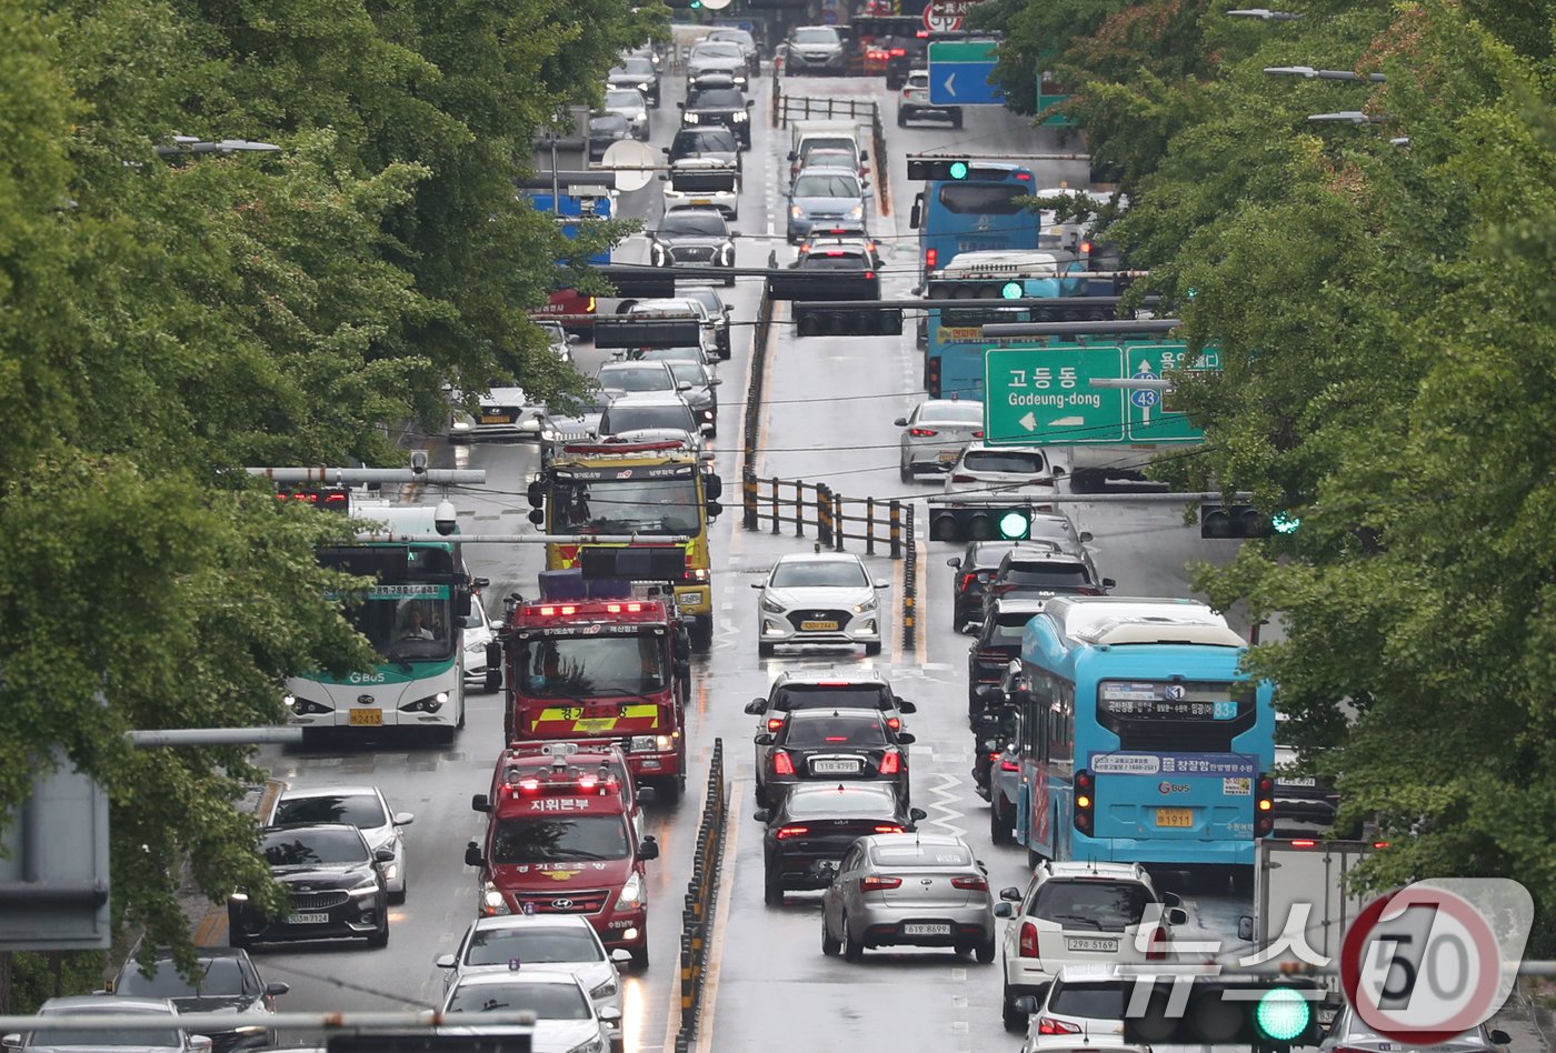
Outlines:
{"label": "red fire truck with yellow-striped front, behind the red command SUV", "polygon": [[680,799],[691,641],[664,600],[520,600],[501,641],[506,743],[607,739],[638,785]]}

